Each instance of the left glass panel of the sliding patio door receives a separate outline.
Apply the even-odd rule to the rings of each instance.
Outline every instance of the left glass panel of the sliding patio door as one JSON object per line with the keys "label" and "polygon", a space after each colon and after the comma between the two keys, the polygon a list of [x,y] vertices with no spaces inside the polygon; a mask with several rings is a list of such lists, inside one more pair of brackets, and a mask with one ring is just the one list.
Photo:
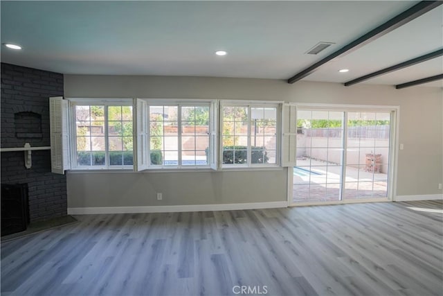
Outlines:
{"label": "left glass panel of the sliding patio door", "polygon": [[341,199],[343,116],[344,112],[298,111],[293,202]]}

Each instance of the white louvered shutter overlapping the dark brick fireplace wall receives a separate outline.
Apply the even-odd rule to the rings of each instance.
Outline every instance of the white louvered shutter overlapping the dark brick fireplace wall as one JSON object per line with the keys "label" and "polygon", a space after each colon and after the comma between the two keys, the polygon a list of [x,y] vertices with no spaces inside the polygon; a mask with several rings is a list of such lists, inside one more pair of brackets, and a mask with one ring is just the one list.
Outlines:
{"label": "white louvered shutter overlapping the dark brick fireplace wall", "polygon": [[69,102],[63,97],[49,98],[51,132],[51,171],[64,174],[71,168],[69,146]]}

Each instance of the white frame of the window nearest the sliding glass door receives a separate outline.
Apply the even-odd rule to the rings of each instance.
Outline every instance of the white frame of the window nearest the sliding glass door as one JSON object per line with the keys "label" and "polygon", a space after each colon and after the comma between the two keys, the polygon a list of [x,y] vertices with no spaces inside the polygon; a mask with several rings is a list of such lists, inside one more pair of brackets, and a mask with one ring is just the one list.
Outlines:
{"label": "white frame of the window nearest the sliding glass door", "polygon": [[[246,164],[223,164],[223,124],[224,124],[224,107],[248,107],[248,147],[247,147],[247,163]],[[275,107],[276,108],[276,131],[275,131],[275,164],[252,164],[251,161],[251,108],[253,107]],[[263,168],[278,168],[281,164],[281,113],[282,102],[280,101],[243,101],[243,100],[223,100],[220,101],[219,107],[219,169],[220,170],[253,170]]]}

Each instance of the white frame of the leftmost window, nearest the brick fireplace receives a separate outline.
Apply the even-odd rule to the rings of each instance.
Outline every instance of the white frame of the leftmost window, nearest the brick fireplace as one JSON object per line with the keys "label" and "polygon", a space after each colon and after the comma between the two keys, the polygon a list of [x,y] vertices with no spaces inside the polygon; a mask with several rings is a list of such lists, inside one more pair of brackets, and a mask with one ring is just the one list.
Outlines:
{"label": "white frame of the leftmost window, nearest the brick fireplace", "polygon": [[[70,134],[71,134],[71,169],[73,171],[101,171],[101,170],[133,170],[134,164],[136,162],[136,141],[134,139],[134,122],[136,119],[133,99],[132,98],[67,98],[70,101]],[[76,131],[76,116],[75,116],[75,106],[78,105],[102,105],[105,107],[105,166],[78,166],[77,164],[77,131]],[[121,166],[111,166],[109,165],[109,139],[108,139],[108,117],[107,117],[107,107],[108,106],[131,106],[132,107],[132,134],[133,134],[133,165],[121,165]]]}

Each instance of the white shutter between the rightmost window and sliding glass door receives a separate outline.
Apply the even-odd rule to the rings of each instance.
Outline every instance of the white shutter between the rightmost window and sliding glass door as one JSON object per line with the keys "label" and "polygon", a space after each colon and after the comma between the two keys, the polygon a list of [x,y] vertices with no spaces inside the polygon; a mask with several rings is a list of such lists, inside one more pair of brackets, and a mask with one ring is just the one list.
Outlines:
{"label": "white shutter between the rightmost window and sliding glass door", "polygon": [[296,105],[283,104],[282,115],[282,166],[296,166],[297,140]]}

